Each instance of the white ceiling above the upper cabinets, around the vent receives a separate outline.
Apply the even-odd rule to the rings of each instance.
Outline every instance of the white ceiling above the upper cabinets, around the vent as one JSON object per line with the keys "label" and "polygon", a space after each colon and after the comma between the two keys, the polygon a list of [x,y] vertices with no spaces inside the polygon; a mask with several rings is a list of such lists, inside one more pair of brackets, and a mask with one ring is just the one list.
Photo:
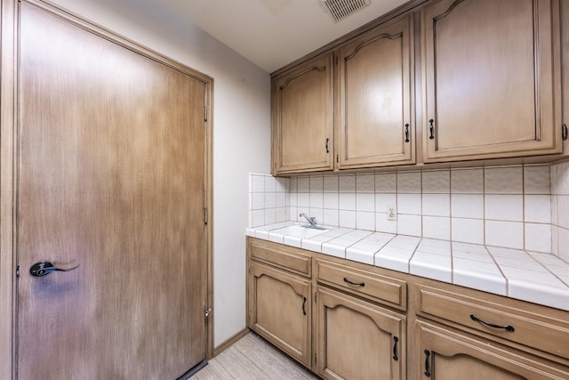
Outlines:
{"label": "white ceiling above the upper cabinets, around the vent", "polygon": [[158,1],[269,73],[407,2],[371,0],[334,22],[320,0]]}

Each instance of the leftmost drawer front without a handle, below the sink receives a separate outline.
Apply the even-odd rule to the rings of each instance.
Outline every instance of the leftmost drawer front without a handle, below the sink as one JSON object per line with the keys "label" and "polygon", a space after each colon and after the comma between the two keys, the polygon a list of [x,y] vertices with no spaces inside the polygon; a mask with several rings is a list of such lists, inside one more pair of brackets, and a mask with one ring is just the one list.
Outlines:
{"label": "leftmost drawer front without a handle, below the sink", "polygon": [[310,277],[312,275],[312,257],[295,252],[293,247],[285,247],[264,240],[249,240],[250,255],[253,260],[270,263],[279,268]]}

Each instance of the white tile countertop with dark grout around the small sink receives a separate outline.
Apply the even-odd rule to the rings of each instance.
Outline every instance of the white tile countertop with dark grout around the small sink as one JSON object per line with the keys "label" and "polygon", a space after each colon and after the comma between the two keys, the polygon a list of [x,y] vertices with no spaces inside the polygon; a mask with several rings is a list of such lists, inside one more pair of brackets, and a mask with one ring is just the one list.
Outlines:
{"label": "white tile countertop with dark grout around the small sink", "polygon": [[248,228],[247,236],[569,311],[569,263],[555,255],[368,230],[333,228],[311,238]]}

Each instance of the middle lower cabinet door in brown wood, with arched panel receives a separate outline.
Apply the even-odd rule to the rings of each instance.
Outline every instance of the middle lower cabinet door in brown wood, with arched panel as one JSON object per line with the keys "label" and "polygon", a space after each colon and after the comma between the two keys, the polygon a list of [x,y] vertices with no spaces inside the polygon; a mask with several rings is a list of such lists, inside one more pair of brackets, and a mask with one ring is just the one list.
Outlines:
{"label": "middle lower cabinet door in brown wood, with arched panel", "polygon": [[405,316],[325,287],[317,308],[319,376],[405,378]]}

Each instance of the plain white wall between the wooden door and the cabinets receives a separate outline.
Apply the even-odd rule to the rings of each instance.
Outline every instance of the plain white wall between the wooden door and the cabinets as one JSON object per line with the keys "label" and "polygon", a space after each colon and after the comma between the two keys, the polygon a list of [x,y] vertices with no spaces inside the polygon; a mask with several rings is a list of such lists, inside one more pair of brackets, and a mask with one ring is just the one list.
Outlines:
{"label": "plain white wall between the wooden door and the cabinets", "polygon": [[55,0],[158,53],[213,77],[214,345],[245,327],[244,230],[248,174],[268,173],[268,73],[159,0]]}

